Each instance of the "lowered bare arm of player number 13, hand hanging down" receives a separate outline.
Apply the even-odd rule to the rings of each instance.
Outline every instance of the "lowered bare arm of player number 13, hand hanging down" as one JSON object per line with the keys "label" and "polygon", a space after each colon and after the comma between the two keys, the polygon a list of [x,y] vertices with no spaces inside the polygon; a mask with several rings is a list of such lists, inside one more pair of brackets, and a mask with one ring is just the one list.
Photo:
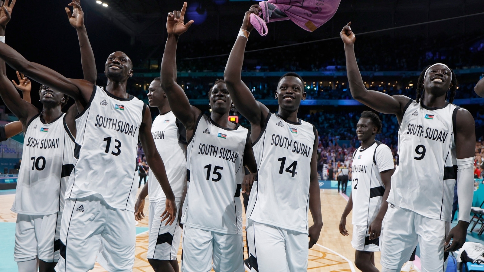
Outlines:
{"label": "lowered bare arm of player number 13, hand hanging down", "polygon": [[149,107],[146,107],[145,109],[145,115],[143,117],[143,122],[139,127],[138,137],[141,142],[141,147],[145,151],[146,162],[151,166],[155,166],[152,167],[153,174],[160,183],[161,189],[166,196],[166,208],[165,212],[162,214],[162,221],[168,219],[165,225],[171,225],[175,220],[175,214],[177,212],[175,195],[173,194],[168,178],[166,177],[165,164],[163,164],[163,160],[154,144],[153,136],[151,136],[151,112]]}

